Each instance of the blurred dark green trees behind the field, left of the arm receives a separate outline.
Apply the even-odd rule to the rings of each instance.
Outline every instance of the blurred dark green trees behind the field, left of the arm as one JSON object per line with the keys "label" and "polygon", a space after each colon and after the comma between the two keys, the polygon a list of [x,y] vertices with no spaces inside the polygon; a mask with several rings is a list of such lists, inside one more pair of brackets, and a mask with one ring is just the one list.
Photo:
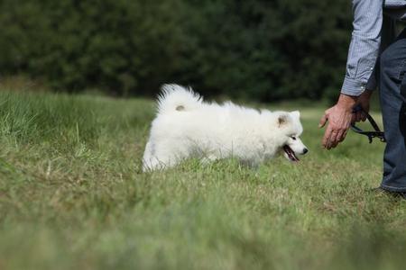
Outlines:
{"label": "blurred dark green trees behind the field, left of the arm", "polygon": [[263,101],[335,96],[351,31],[347,0],[0,3],[2,75],[71,92],[177,82]]}

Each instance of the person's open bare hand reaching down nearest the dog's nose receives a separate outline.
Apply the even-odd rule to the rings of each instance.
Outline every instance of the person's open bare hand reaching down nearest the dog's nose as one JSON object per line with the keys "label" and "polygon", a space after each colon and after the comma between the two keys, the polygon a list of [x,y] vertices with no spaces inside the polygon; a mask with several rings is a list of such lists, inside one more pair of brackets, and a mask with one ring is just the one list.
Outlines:
{"label": "person's open bare hand reaching down nearest the dog's nose", "polygon": [[322,140],[324,148],[336,148],[338,143],[346,139],[346,131],[350,127],[356,101],[357,98],[354,96],[340,94],[337,104],[329,108],[321,117],[319,128],[324,127],[328,122]]}

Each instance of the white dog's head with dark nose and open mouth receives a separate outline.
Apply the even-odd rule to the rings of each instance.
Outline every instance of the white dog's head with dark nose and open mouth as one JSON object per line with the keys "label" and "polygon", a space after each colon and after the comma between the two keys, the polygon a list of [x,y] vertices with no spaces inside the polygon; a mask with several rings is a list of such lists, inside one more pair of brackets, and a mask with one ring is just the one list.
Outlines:
{"label": "white dog's head with dark nose and open mouth", "polygon": [[300,123],[300,112],[276,112],[278,130],[281,136],[283,156],[291,161],[299,161],[297,155],[304,155],[309,149],[303,144],[300,135],[303,127]]}

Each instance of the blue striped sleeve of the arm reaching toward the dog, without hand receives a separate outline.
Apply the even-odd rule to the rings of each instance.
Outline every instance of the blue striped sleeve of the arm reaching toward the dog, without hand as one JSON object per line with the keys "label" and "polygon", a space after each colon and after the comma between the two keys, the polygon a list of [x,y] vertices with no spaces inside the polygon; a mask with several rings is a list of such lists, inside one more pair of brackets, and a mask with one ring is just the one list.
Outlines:
{"label": "blue striped sleeve of the arm reaching toward the dog, without hand", "polygon": [[381,44],[383,0],[353,0],[354,31],[346,61],[342,94],[358,96],[374,71]]}

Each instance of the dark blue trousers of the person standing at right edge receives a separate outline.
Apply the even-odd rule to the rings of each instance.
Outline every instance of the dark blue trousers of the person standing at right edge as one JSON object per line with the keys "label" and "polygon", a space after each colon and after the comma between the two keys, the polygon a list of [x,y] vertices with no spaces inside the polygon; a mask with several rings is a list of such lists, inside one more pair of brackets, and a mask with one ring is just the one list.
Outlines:
{"label": "dark blue trousers of the person standing at right edge", "polygon": [[392,192],[406,192],[406,29],[383,51],[379,76],[387,141],[381,187]]}

